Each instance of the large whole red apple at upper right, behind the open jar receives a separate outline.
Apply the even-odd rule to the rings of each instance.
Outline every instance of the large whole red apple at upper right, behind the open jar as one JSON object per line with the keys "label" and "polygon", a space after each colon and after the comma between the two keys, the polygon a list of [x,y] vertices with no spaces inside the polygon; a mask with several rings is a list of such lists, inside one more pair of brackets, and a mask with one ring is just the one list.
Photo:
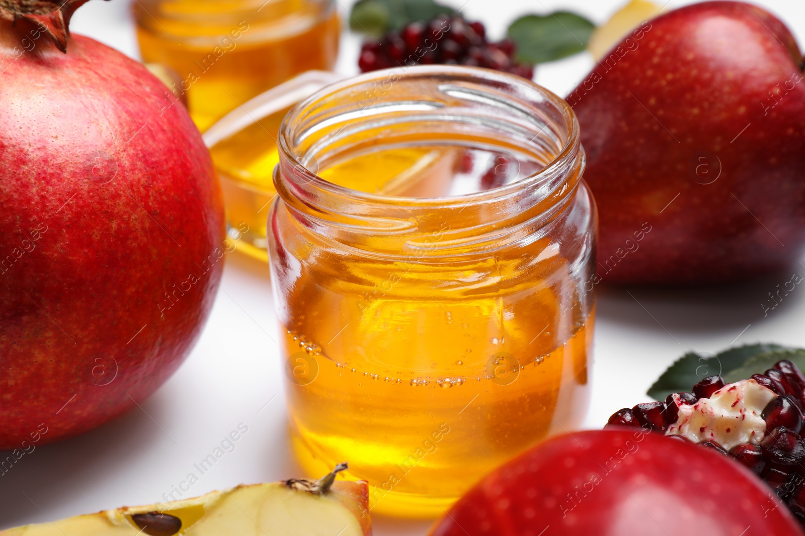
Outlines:
{"label": "large whole red apple at upper right, behind the open jar", "polygon": [[638,27],[568,95],[599,208],[599,278],[720,282],[801,258],[802,60],[765,10],[704,2]]}

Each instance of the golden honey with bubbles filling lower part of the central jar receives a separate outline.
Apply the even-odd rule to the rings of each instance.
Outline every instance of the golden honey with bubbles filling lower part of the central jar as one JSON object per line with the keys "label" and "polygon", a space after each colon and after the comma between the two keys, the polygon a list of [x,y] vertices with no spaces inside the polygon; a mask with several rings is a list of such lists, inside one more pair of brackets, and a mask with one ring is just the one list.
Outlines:
{"label": "golden honey with bubbles filling lower part of the central jar", "polygon": [[[299,296],[299,306],[321,297]],[[317,474],[336,460],[349,460],[351,476],[373,484],[373,511],[439,515],[479,476],[550,431],[574,429],[583,417],[592,315],[558,347],[555,334],[535,321],[505,322],[495,331],[509,331],[509,340],[495,344],[494,337],[482,338],[490,315],[519,305],[519,313],[547,322],[547,311],[500,296],[460,304],[432,297],[431,307],[414,314],[413,300],[375,300],[374,314],[349,315],[355,330],[320,324],[331,315],[314,310],[313,322],[287,330],[283,341],[291,367],[309,367],[313,357],[318,368],[315,381],[305,384],[309,372],[300,370],[299,383],[289,387],[300,463]],[[559,301],[546,298],[540,305]],[[415,299],[427,303],[431,296]],[[340,307],[357,307],[339,301]],[[337,318],[346,321],[345,315]],[[327,344],[331,334],[336,340]],[[317,340],[324,340],[322,346]],[[376,349],[361,355],[368,353],[367,341]]]}

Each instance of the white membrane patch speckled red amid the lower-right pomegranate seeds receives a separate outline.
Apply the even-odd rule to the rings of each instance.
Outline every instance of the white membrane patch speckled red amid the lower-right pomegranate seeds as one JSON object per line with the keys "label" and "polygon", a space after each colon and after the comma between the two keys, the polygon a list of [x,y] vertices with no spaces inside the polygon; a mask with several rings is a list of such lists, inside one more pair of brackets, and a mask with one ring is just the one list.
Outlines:
{"label": "white membrane patch speckled red amid the lower-right pomegranate seeds", "polygon": [[761,414],[766,405],[777,398],[774,391],[754,380],[730,383],[688,406],[672,395],[679,407],[679,418],[666,435],[683,435],[693,443],[715,441],[729,449],[741,443],[758,444],[766,435],[766,422]]}

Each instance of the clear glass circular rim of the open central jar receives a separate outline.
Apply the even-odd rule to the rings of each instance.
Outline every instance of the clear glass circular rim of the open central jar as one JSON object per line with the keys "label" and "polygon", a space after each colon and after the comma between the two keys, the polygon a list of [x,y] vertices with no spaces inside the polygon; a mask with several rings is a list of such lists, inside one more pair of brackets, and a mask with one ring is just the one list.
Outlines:
{"label": "clear glass circular rim of the open central jar", "polygon": [[[557,110],[561,118],[564,119],[564,128],[566,129],[567,135],[564,138],[563,146],[550,162],[546,163],[539,171],[533,174],[526,175],[525,177],[496,188],[490,188],[489,190],[458,194],[455,196],[413,197],[363,192],[322,179],[316,172],[308,169],[307,165],[303,162],[303,155],[296,154],[293,149],[294,143],[291,141],[295,138],[294,127],[301,122],[303,113],[305,113],[306,110],[314,107],[317,101],[323,101],[327,97],[332,97],[333,95],[345,92],[353,87],[365,85],[373,80],[391,80],[394,77],[400,80],[407,76],[443,76],[456,77],[456,79],[469,77],[478,82],[488,83],[490,86],[495,84],[507,84],[535,91],[539,93],[539,96],[542,97],[544,101],[547,101],[549,105]],[[543,127],[543,130],[544,128],[545,127]],[[536,139],[539,134],[542,134],[542,130],[535,134],[533,139]],[[279,146],[280,163],[277,170],[275,170],[275,183],[282,179],[282,176],[278,177],[278,175],[283,175],[280,167],[283,167],[284,159],[290,164],[294,170],[294,174],[297,175],[297,179],[299,179],[294,183],[295,188],[316,188],[325,195],[339,196],[348,201],[381,205],[405,205],[411,208],[455,208],[456,206],[460,207],[470,203],[483,203],[490,200],[505,199],[508,196],[516,195],[526,184],[539,183],[542,177],[554,175],[563,167],[568,167],[572,161],[577,158],[581,150],[580,130],[576,113],[573,112],[571,106],[567,101],[564,101],[562,97],[559,97],[549,89],[536,84],[532,80],[527,80],[522,76],[488,68],[455,65],[415,65],[411,67],[387,68],[373,72],[365,72],[361,75],[327,85],[304,101],[299,102],[299,104],[295,105],[287,113],[280,126],[277,142]],[[278,192],[280,192],[279,184],[277,184],[277,187]]]}

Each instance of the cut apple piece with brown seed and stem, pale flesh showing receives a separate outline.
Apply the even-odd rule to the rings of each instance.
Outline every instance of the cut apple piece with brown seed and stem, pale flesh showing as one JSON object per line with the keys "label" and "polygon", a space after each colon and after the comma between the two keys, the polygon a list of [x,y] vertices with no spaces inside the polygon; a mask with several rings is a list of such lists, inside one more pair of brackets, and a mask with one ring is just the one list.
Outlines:
{"label": "cut apple piece with brown seed and stem, pale flesh showing", "polygon": [[183,501],[68,517],[0,531],[0,536],[370,536],[364,480],[336,481],[339,464],[320,480],[240,485]]}

